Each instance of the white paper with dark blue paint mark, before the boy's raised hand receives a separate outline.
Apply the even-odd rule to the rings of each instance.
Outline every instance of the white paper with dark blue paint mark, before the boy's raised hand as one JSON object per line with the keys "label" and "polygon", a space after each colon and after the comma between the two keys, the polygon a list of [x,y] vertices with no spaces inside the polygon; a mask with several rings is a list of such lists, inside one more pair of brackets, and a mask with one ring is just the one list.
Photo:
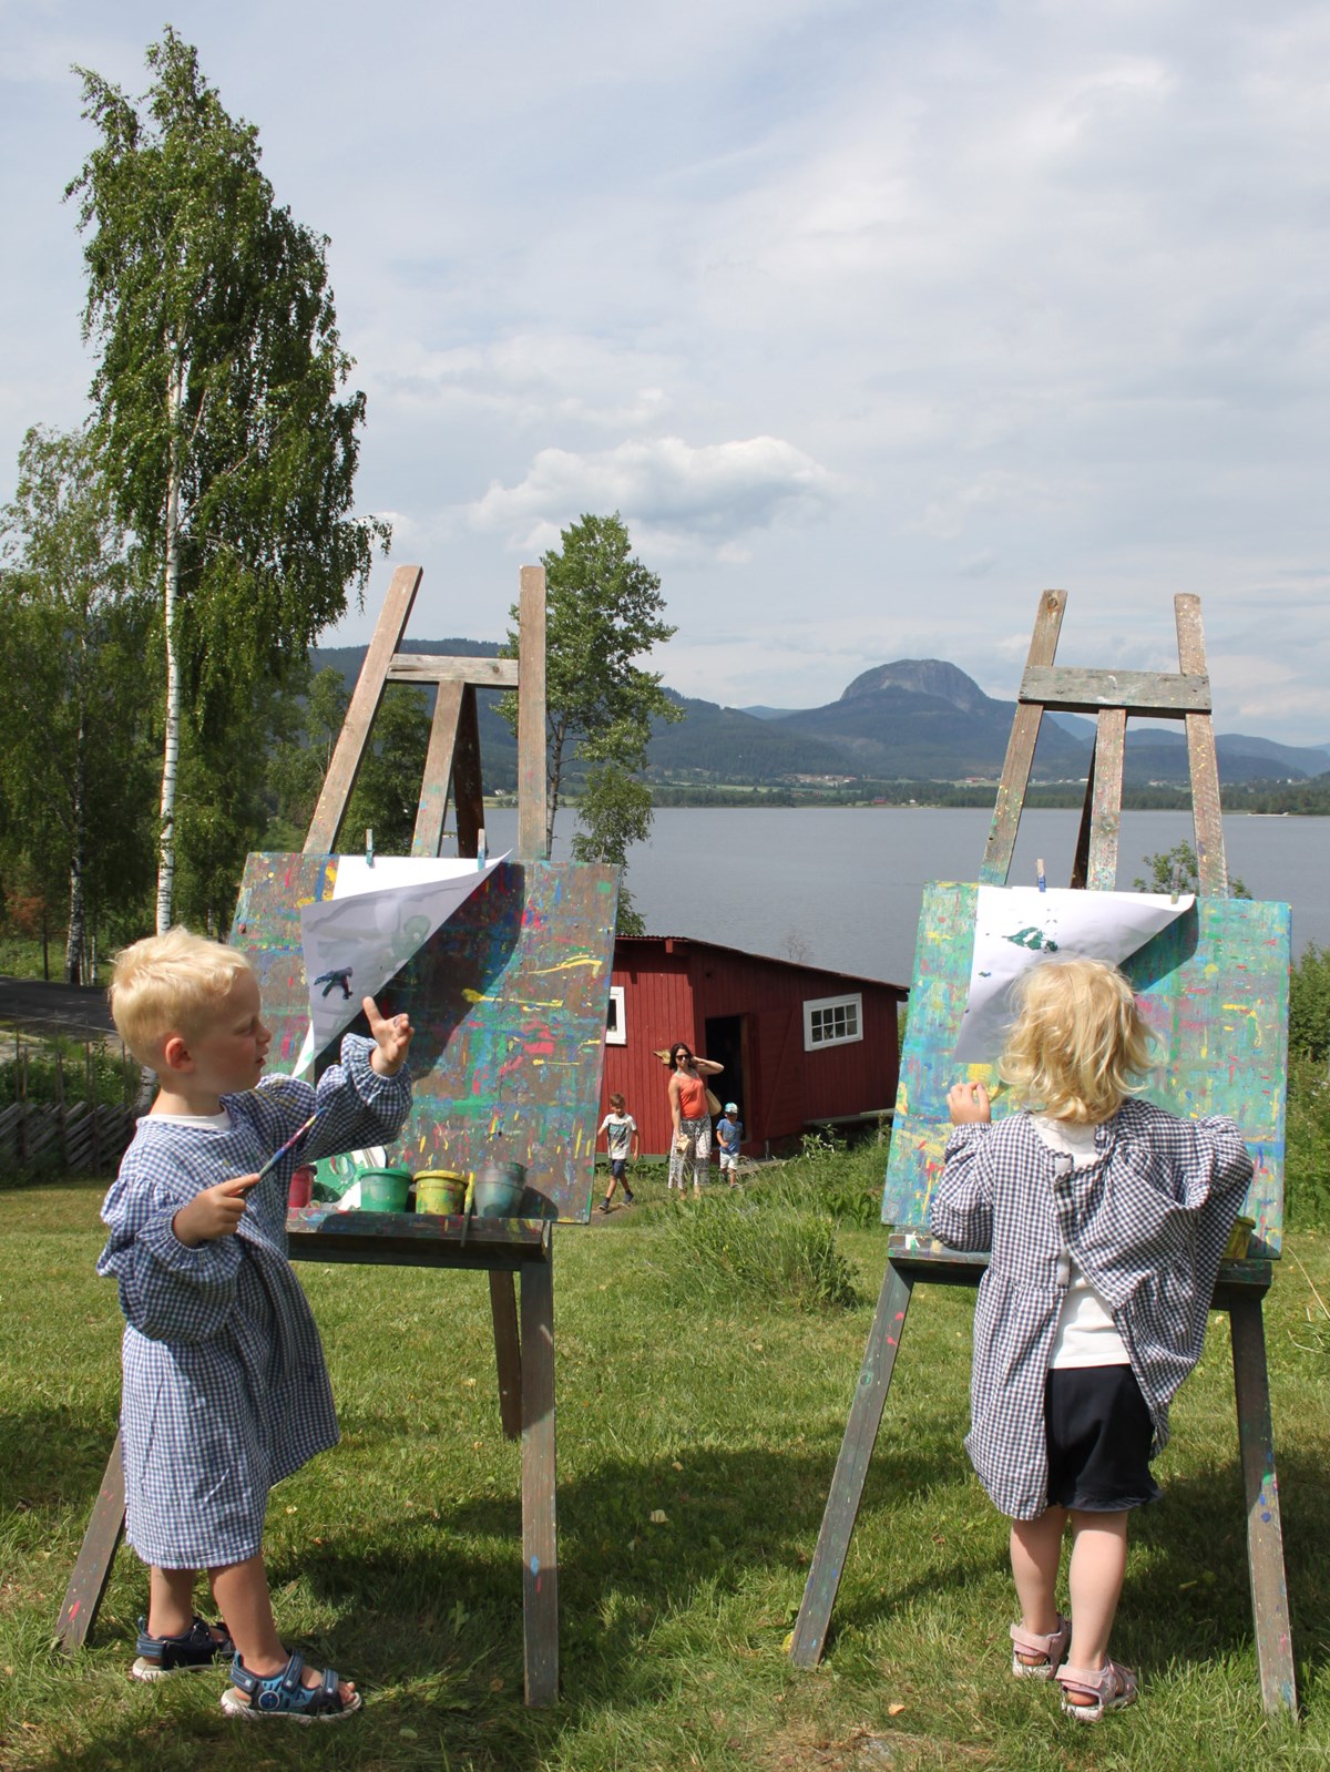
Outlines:
{"label": "white paper with dark blue paint mark, before the boy's raised hand", "polygon": [[314,1063],[505,856],[484,867],[440,856],[342,856],[332,898],[300,913],[310,1024],[294,1076]]}

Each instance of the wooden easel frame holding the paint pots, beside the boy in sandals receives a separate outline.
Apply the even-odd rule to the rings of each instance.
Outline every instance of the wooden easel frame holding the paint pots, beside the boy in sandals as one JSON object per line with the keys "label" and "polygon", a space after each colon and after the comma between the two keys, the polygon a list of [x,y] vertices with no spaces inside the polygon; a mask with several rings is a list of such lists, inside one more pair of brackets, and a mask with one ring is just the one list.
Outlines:
{"label": "wooden easel frame holding the paint pots, beside the boy in sandals", "polygon": [[[436,856],[449,785],[458,819],[458,851],[475,856],[484,826],[477,688],[518,691],[518,858],[546,851],[544,769],[544,571],[521,569],[520,659],[449,659],[399,652],[422,578],[397,567],[374,638],[346,711],[328,776],[314,810],[305,854],[335,851],[356,771],[388,682],[438,688],[411,854]],[[364,1228],[356,1224],[362,1219]],[[525,1696],[552,1705],[559,1696],[559,1556],[555,1513],[553,1246],[550,1223],[477,1219],[461,1237],[445,1237],[413,1217],[381,1223],[349,1216],[310,1230],[293,1216],[291,1260],[372,1262],[410,1267],[484,1269],[498,1366],[498,1414],[507,1439],[521,1435],[521,1570]],[[521,1306],[514,1288],[521,1276]],[[124,1531],[124,1465],[115,1437],[83,1545],[60,1607],[57,1639],[78,1648],[92,1628]]]}

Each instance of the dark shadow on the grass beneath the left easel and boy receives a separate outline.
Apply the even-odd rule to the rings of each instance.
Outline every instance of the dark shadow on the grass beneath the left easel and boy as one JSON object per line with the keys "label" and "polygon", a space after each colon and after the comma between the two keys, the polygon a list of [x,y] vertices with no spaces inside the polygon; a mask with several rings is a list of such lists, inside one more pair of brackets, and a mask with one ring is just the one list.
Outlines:
{"label": "dark shadow on the grass beneath the left easel and boy", "polygon": [[[709,1632],[731,1600],[738,1602],[732,1630],[748,1632],[750,1646],[778,1660],[791,1625],[789,1597],[802,1593],[821,1522],[826,1455],[697,1449],[681,1462],[683,1473],[665,1458],[610,1460],[560,1485],[562,1699],[544,1712],[521,1701],[516,1494],[466,1497],[440,1508],[438,1519],[417,1506],[326,1543],[271,1554],[278,1616],[287,1604],[284,1589],[303,1589],[305,1600],[291,1605],[335,1618],[300,1648],[310,1664],[353,1676],[369,1705],[344,1726],[270,1729],[261,1738],[262,1756],[271,1760],[278,1751],[286,1765],[291,1738],[314,1737],[321,1763],[534,1768],[557,1758],[564,1737],[596,1729],[603,1712],[677,1705],[679,1657],[715,1655]],[[935,1471],[915,1455],[913,1480],[945,1481],[952,1464]],[[282,1492],[275,1494],[280,1503]],[[653,1524],[651,1513],[667,1519]],[[754,1582],[761,1584],[755,1600]],[[92,1669],[117,1676],[128,1657],[128,1641],[121,1646],[98,1627],[78,1678]],[[220,1685],[209,1676],[206,1694],[181,1696],[172,1683],[163,1694],[170,1728],[156,1714],[145,1721],[142,1692],[126,1698],[117,1685],[105,1726],[89,1719],[85,1740],[21,1763],[34,1772],[174,1772],[197,1765],[202,1754],[209,1765],[231,1765],[227,1742],[243,1733],[236,1753],[257,1742],[254,1729],[238,1731],[216,1712]]]}

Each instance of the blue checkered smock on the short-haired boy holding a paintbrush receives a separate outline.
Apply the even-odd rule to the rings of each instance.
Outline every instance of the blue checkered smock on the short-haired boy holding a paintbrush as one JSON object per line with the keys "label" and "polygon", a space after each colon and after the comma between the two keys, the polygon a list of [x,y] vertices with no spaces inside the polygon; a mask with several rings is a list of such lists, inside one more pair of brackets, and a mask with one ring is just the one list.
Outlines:
{"label": "blue checkered smock on the short-haired boy holding a paintbrush", "polygon": [[[298,1162],[395,1138],[411,1083],[404,1069],[381,1077],[372,1051],[346,1035],[317,1093],[275,1076],[225,1095],[225,1132],[147,1115],[124,1154],[98,1272],[115,1276],[126,1315],[126,1536],[145,1563],[243,1563],[262,1545],[270,1487],[337,1444],[319,1331],[287,1260],[286,1196]],[[261,1170],[316,1104],[317,1125],[254,1189],[234,1237],[176,1240],[183,1205]]]}

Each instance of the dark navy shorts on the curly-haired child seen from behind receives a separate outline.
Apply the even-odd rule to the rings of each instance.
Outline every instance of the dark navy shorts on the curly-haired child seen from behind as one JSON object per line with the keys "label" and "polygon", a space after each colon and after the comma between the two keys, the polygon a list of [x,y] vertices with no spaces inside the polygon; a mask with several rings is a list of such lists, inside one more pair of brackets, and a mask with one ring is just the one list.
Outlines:
{"label": "dark navy shorts on the curly-haired child seen from behind", "polygon": [[1121,1513],[1158,1501],[1154,1426],[1130,1366],[1053,1366],[1044,1380],[1048,1504]]}

